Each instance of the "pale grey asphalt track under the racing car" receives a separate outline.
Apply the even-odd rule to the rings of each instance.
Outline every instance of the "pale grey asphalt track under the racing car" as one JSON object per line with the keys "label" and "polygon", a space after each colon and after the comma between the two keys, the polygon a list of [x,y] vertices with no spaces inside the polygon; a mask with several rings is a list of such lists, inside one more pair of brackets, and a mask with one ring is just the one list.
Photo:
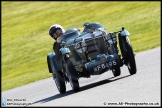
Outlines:
{"label": "pale grey asphalt track under the racing car", "polygon": [[[69,83],[60,94],[52,77],[1,92],[5,106],[161,106],[161,47],[137,53],[137,73],[130,75],[121,67],[121,75],[112,71],[91,78],[80,78],[80,91]],[[48,72],[48,70],[47,70]]]}

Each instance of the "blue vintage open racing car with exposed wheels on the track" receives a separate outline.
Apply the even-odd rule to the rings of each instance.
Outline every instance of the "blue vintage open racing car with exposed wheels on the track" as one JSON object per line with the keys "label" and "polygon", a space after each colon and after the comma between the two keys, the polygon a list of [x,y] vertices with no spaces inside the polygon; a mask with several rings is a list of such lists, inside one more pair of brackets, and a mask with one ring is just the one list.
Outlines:
{"label": "blue vintage open racing car with exposed wheels on the track", "polygon": [[[135,55],[128,36],[122,27],[117,32],[107,32],[100,23],[85,23],[81,32],[77,28],[68,29],[60,43],[60,49],[47,55],[49,72],[60,93],[66,92],[66,82],[79,91],[79,78],[90,78],[112,70],[119,76],[120,67],[126,65],[131,75],[136,74]],[[117,36],[118,34],[118,41]],[[119,42],[121,55],[119,55]]]}

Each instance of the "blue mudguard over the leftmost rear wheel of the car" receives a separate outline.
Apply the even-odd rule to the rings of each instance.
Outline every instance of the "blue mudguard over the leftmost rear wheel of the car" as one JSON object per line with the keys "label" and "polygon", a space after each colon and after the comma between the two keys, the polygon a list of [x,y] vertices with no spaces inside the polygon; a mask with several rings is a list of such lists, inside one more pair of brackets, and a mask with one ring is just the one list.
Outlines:
{"label": "blue mudguard over the leftmost rear wheel of the car", "polygon": [[50,65],[50,62],[51,62],[50,60],[53,63],[54,71],[60,71],[61,69],[58,66],[58,63],[56,61],[56,54],[54,52],[51,52],[47,55],[48,70],[50,73],[52,73],[52,67]]}

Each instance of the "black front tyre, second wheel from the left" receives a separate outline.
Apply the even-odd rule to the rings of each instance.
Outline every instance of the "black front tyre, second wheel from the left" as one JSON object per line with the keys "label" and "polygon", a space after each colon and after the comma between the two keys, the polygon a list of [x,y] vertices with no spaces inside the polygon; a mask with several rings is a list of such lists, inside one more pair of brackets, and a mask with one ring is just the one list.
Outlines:
{"label": "black front tyre, second wheel from the left", "polygon": [[66,60],[65,69],[72,89],[74,90],[74,92],[79,91],[78,76],[73,66],[73,63],[69,58]]}

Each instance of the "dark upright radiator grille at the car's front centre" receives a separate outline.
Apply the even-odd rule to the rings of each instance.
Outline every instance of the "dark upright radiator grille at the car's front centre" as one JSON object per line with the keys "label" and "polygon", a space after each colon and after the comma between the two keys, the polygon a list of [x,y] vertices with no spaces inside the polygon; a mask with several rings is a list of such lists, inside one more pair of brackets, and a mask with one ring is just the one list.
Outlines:
{"label": "dark upright radiator grille at the car's front centre", "polygon": [[99,54],[107,54],[107,48],[103,37],[98,37],[86,41],[88,47],[88,55],[91,59],[95,59]]}

